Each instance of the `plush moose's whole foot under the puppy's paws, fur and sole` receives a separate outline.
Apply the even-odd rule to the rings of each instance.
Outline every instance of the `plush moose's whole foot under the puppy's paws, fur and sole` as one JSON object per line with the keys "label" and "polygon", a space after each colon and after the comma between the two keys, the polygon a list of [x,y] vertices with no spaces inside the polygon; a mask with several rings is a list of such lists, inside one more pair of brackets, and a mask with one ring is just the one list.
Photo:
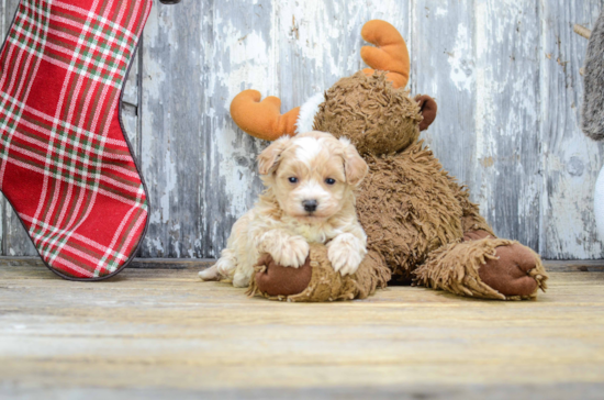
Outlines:
{"label": "plush moose's whole foot under the puppy's paws, fur and sole", "polygon": [[262,255],[248,295],[281,301],[335,301],[365,299],[385,287],[390,269],[369,253],[354,275],[336,273],[324,245],[312,244],[306,263],[300,268],[282,267],[270,255]]}

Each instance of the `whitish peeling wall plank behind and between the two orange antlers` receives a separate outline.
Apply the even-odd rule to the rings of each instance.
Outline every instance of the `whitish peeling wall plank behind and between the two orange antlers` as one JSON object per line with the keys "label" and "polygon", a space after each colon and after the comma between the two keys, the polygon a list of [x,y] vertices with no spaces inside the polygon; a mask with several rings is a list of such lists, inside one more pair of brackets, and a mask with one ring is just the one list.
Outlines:
{"label": "whitish peeling wall plank behind and between the two orange antlers", "polygon": [[[411,3],[396,0],[278,2],[277,92],[282,109],[302,105],[311,96],[327,90],[338,79],[366,68],[360,58],[362,25],[387,19],[411,36]],[[411,42],[409,43],[411,46]],[[267,93],[268,96],[269,93]]]}

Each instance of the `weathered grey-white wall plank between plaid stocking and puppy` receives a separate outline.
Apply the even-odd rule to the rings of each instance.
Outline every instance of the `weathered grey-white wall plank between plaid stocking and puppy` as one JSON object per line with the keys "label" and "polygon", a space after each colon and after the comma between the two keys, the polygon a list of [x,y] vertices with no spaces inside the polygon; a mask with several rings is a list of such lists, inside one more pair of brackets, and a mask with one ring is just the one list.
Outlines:
{"label": "weathered grey-white wall plank between plaid stocking and puppy", "polygon": [[228,105],[275,82],[270,1],[158,4],[145,31],[143,165],[152,215],[143,256],[216,257],[261,189],[264,144]]}

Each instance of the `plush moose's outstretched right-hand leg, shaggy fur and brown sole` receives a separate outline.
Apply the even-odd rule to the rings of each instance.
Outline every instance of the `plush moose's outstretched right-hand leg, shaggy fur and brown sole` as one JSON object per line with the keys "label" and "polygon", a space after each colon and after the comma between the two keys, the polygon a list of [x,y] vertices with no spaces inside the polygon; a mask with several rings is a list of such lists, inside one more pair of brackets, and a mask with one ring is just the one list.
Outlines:
{"label": "plush moose's outstretched right-hand leg, shaggy fur and brown sole", "polygon": [[545,291],[547,274],[539,256],[515,241],[469,232],[465,242],[430,254],[415,270],[417,282],[460,296],[521,300]]}

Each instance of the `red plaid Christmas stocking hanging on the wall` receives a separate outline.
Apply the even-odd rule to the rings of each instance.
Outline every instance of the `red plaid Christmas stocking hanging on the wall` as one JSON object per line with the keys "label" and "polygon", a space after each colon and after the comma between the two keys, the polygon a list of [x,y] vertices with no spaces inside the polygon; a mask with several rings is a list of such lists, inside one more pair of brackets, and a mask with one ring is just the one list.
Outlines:
{"label": "red plaid Christmas stocking hanging on the wall", "polygon": [[22,0],[0,54],[0,189],[51,270],[108,278],[147,225],[120,120],[150,0]]}

